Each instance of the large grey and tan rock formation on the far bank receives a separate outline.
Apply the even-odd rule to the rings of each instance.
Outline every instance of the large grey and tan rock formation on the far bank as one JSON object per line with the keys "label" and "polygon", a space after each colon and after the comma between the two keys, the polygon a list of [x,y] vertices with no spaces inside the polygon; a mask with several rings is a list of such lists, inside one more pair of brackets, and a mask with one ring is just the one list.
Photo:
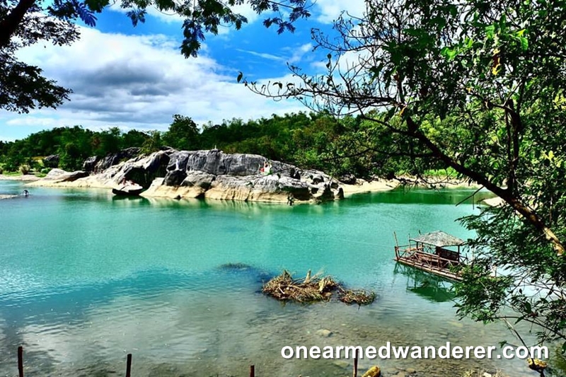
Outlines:
{"label": "large grey and tan rock formation on the far bank", "polygon": [[[206,197],[257,202],[320,202],[341,199],[340,182],[318,170],[301,170],[255,154],[167,149],[137,155],[127,149],[105,158],[88,158],[83,170],[52,173],[37,185],[115,187],[130,180],[146,188],[148,197]],[[135,154],[135,156],[132,156]],[[131,156],[131,157],[129,157]],[[269,166],[268,172],[262,168]],[[62,173],[63,172],[63,173]],[[88,177],[85,175],[91,173]],[[63,185],[63,184],[62,184]]]}

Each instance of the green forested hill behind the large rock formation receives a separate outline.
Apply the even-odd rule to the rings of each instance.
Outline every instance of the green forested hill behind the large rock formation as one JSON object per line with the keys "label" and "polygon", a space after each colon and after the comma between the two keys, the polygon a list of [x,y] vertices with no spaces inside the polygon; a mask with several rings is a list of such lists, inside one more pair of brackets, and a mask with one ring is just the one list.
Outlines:
{"label": "green forested hill behind the large rock formation", "polygon": [[[337,176],[354,174],[358,178],[420,173],[425,168],[435,168],[419,161],[409,162],[408,158],[393,161],[379,151],[391,149],[395,142],[384,135],[376,139],[374,127],[354,117],[336,120],[329,115],[299,112],[198,127],[190,117],[174,115],[166,132],[135,129],[122,132],[117,127],[95,132],[75,126],[37,132],[17,141],[0,141],[0,169],[9,172],[23,167],[44,173],[50,167],[78,170],[90,156],[105,156],[132,146],[141,147],[144,153],[162,146],[255,153],[301,168],[315,168]],[[50,155],[58,155],[59,160],[44,165],[43,158]]]}

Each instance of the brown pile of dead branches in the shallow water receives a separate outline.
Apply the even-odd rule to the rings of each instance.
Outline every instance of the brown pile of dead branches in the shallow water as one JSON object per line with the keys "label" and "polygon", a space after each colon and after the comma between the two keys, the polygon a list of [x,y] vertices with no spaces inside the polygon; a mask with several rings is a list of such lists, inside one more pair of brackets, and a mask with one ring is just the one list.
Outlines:
{"label": "brown pile of dead branches in the shallow water", "polygon": [[296,301],[299,303],[313,303],[317,301],[330,301],[334,293],[344,303],[368,305],[374,302],[376,295],[363,290],[352,291],[345,289],[333,277],[311,277],[309,269],[304,279],[294,279],[287,270],[274,277],[263,285],[262,292],[279,301]]}

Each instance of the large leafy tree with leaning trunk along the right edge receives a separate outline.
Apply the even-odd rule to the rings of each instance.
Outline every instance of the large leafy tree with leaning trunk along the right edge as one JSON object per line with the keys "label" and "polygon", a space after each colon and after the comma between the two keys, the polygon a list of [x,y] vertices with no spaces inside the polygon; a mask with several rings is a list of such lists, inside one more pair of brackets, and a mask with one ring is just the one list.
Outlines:
{"label": "large leafy tree with leaning trunk along the right edge", "polygon": [[[459,313],[566,340],[565,29],[565,1],[367,0],[362,18],[335,23],[337,37],[313,30],[325,74],[291,66],[300,85],[243,81],[357,113],[373,124],[360,151],[441,164],[500,197],[465,219],[483,251],[458,286]],[[490,277],[492,263],[507,276]]]}

